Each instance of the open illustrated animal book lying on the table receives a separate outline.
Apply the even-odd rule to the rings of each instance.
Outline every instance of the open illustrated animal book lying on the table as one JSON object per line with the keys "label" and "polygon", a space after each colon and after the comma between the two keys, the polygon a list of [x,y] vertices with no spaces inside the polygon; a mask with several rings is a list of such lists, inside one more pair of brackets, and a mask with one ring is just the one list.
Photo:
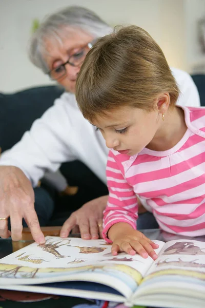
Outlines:
{"label": "open illustrated animal book lying on the table", "polygon": [[0,260],[0,288],[177,308],[205,306],[205,242],[159,244],[157,260],[104,240],[46,237]]}

